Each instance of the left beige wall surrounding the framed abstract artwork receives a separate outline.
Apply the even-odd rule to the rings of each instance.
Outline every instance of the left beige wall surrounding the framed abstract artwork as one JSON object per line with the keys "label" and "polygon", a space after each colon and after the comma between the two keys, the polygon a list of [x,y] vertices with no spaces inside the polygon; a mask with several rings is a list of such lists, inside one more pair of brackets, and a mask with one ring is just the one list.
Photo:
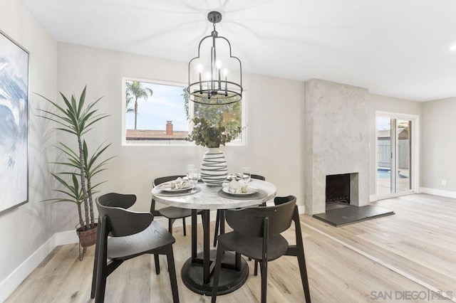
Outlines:
{"label": "left beige wall surrounding the framed abstract artwork", "polygon": [[24,46],[29,52],[29,181],[28,203],[0,215],[0,301],[7,295],[8,277],[24,260],[33,254],[65,225],[65,213],[56,211],[65,206],[38,203],[51,195],[48,182],[46,145],[53,144],[55,137],[50,125],[36,117],[40,100],[33,95],[39,92],[47,96],[56,95],[56,41],[36,22],[19,0],[1,1],[0,28],[8,36]]}

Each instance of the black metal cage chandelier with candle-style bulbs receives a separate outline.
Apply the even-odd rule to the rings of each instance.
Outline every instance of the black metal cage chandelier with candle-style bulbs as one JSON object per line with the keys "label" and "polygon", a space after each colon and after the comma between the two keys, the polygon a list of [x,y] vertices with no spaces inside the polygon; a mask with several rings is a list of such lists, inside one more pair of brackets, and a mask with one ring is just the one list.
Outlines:
{"label": "black metal cage chandelier with candle-style bulbs", "polygon": [[214,30],[199,41],[198,55],[188,63],[189,99],[207,105],[238,102],[242,99],[241,60],[232,55],[228,39],[215,30],[222,14],[211,11],[207,20]]}

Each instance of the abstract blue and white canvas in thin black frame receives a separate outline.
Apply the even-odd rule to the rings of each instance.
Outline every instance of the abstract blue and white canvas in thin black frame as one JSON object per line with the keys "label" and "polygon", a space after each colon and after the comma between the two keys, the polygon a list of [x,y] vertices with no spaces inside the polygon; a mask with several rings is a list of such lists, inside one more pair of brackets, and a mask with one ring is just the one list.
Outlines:
{"label": "abstract blue and white canvas in thin black frame", "polygon": [[0,31],[0,213],[28,201],[28,51]]}

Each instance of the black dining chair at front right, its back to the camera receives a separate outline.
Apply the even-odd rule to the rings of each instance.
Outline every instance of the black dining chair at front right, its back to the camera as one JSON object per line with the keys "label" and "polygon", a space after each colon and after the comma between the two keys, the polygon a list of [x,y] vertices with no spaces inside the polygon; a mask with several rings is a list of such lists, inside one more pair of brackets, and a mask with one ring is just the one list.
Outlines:
{"label": "black dining chair at front right, its back to the camera", "polygon": [[[212,284],[212,302],[215,302],[217,298],[220,267],[225,250],[238,252],[260,262],[262,303],[266,302],[268,262],[283,255],[297,257],[304,297],[306,302],[311,302],[296,197],[276,197],[274,203],[274,206],[257,206],[226,211],[227,223],[233,228],[233,231],[217,237],[218,247]],[[290,228],[292,221],[295,225],[296,245],[289,245],[286,239],[280,235]]]}

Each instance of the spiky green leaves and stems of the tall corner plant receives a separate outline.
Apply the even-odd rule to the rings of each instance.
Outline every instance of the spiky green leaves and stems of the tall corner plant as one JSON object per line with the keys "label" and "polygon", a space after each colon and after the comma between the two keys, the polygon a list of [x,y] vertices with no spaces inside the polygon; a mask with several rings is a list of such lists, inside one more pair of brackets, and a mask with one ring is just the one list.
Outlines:
{"label": "spiky green leaves and stems of the tall corner plant", "polygon": [[[97,159],[103,154],[109,145],[103,147],[100,145],[98,149],[95,150],[93,155],[89,156],[88,147],[86,141],[83,139],[83,135],[93,129],[95,122],[100,121],[108,117],[106,114],[98,114],[98,110],[95,110],[95,105],[101,100],[98,98],[94,102],[86,104],[86,87],[84,87],[83,92],[78,100],[76,100],[75,95],[71,95],[71,98],[68,99],[65,95],[61,94],[65,106],[62,107],[56,102],[49,100],[48,98],[43,97],[47,100],[48,103],[53,107],[53,110],[39,110],[45,119],[49,119],[53,122],[56,122],[59,127],[56,129],[63,132],[68,132],[76,136],[77,139],[77,150],[71,149],[68,145],[58,142],[58,149],[63,151],[68,158],[63,162],[53,162],[60,166],[66,166],[68,168],[73,168],[75,171],[61,171],[56,174],[51,173],[51,175],[63,185],[63,190],[55,190],[59,193],[63,193],[64,198],[53,198],[48,201],[53,202],[73,202],[78,206],[79,214],[79,223],[81,227],[86,225],[86,228],[93,227],[95,223],[94,213],[93,213],[93,193],[94,188],[101,183],[92,185],[91,179],[95,174],[98,174],[100,171],[103,171],[103,166],[106,162],[111,159],[108,158],[100,163],[96,164]],[[61,175],[70,175],[71,182],[67,182],[65,179],[61,178]],[[76,177],[78,176],[79,179]],[[103,182],[102,182],[103,183]],[[81,204],[84,208],[84,218],[82,216]],[[86,223],[84,223],[84,221]]]}

